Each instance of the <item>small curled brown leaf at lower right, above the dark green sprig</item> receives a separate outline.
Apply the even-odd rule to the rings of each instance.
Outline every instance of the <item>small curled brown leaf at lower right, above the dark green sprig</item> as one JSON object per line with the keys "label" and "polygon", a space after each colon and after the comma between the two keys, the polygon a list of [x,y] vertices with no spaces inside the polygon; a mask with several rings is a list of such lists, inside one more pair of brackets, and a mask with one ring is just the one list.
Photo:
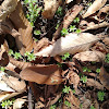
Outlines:
{"label": "small curled brown leaf at lower right, above the dark green sprig", "polygon": [[94,86],[95,88],[98,88],[98,89],[101,89],[101,90],[104,89],[104,86],[99,82],[97,82],[93,78],[87,78],[86,85],[87,86]]}

